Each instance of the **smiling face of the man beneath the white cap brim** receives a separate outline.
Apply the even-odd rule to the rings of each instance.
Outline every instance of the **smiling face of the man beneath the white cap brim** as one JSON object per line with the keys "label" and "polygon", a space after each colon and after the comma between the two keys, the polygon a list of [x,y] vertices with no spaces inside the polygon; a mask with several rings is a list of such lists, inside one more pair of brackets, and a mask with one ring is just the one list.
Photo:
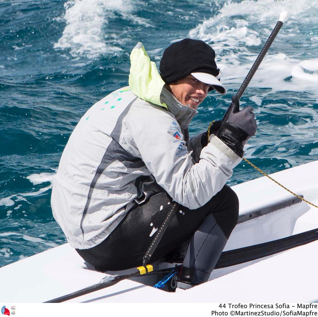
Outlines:
{"label": "smiling face of the man beneath the white cap brim", "polygon": [[208,95],[210,86],[197,80],[192,75],[188,75],[175,83],[168,84],[168,89],[183,105],[197,109]]}

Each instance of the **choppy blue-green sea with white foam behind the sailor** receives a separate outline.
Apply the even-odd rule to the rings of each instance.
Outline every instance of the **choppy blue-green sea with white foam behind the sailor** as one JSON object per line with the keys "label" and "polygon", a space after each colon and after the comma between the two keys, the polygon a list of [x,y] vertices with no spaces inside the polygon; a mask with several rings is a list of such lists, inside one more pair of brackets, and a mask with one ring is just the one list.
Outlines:
{"label": "choppy blue-green sea with white foam behind the sailor", "polygon": [[[317,159],[317,0],[0,0],[0,266],[66,242],[50,207],[61,153],[86,110],[128,84],[138,41],[158,66],[186,37],[215,49],[228,93],[209,94],[195,134],[222,118],[284,10],[241,99],[259,127],[245,157],[267,173]],[[228,183],[259,176],[242,162]]]}

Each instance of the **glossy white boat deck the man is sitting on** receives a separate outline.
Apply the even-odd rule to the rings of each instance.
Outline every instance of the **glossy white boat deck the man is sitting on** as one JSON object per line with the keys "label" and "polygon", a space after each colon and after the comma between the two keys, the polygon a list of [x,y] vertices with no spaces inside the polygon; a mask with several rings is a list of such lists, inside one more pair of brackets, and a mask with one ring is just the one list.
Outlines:
{"label": "glossy white boat deck the man is sitting on", "polygon": [[[318,203],[318,161],[271,175],[287,188]],[[232,187],[240,214],[291,197],[262,177]],[[318,228],[318,209],[302,202],[238,224],[225,250],[275,240]],[[318,301],[318,241],[228,269],[189,290],[168,293],[124,280],[70,302],[309,302]],[[105,275],[86,268],[68,244],[0,269],[3,302],[44,302],[98,283]]]}

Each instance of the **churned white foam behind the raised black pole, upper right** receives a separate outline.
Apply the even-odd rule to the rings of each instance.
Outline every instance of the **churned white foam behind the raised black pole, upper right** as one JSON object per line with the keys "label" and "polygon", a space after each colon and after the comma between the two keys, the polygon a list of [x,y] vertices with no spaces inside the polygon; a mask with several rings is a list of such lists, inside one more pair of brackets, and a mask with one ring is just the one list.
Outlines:
{"label": "churned white foam behind the raised black pole, upper right", "polygon": [[[265,44],[277,22],[278,13],[287,10],[290,17],[262,61],[250,87],[271,88],[272,93],[306,91],[318,98],[318,62],[314,54],[314,48],[318,48],[318,37],[310,31],[313,25],[318,24],[318,17],[313,11],[317,6],[318,0],[228,1],[216,16],[190,30],[189,37],[211,44],[217,54],[217,64],[222,69],[222,82],[228,89],[237,90],[259,53],[255,46]],[[304,29],[308,29],[310,49],[302,35]],[[277,41],[285,44],[278,45]],[[305,58],[304,51],[308,54]],[[260,105],[261,100],[256,103]]]}

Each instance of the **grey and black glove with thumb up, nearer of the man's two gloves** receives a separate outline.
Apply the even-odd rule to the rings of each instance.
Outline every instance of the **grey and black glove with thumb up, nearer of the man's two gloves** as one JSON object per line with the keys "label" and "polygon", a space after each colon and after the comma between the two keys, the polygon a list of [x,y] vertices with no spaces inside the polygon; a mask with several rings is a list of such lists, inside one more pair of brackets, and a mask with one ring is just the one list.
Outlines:
{"label": "grey and black glove with thumb up, nearer of the man's two gloves", "polygon": [[253,110],[253,107],[245,107],[240,111],[239,99],[236,95],[232,96],[229,118],[217,132],[218,138],[241,158],[244,145],[257,131]]}

